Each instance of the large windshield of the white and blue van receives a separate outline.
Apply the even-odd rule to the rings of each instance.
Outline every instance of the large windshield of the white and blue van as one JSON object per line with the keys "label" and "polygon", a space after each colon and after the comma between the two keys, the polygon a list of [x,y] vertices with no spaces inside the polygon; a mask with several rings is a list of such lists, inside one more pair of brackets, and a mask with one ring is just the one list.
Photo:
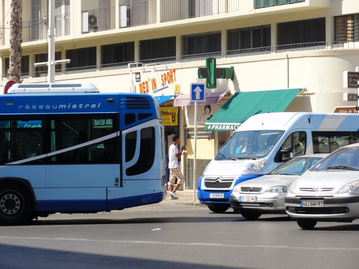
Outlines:
{"label": "large windshield of the white and blue van", "polygon": [[242,131],[234,133],[224,144],[215,160],[258,159],[272,151],[284,131]]}

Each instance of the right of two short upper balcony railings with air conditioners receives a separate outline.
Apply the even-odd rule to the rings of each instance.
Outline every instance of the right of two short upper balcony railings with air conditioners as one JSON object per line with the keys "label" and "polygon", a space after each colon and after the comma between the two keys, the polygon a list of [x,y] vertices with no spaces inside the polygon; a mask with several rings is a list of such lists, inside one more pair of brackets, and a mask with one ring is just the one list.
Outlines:
{"label": "right of two short upper balcony railings with air conditioners", "polygon": [[120,28],[156,23],[157,0],[120,5]]}

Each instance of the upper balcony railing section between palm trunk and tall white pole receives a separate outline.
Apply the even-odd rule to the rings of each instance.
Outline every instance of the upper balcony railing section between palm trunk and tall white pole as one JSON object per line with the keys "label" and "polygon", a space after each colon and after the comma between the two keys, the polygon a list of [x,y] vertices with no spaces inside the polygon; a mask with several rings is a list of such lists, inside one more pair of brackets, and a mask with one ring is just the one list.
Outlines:
{"label": "upper balcony railing section between palm trunk and tall white pole", "polygon": [[47,36],[47,26],[43,18],[23,21],[22,27],[22,42],[41,40]]}

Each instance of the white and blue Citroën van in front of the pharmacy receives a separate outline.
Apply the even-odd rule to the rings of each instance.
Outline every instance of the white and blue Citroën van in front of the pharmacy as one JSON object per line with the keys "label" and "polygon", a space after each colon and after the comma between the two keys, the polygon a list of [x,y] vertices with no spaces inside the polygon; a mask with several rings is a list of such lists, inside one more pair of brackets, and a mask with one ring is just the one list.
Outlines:
{"label": "white and blue Citro\u00ebn van in front of the pharmacy", "polygon": [[297,156],[331,153],[359,142],[359,114],[282,112],[248,118],[207,165],[198,199],[216,213],[230,207],[233,187]]}

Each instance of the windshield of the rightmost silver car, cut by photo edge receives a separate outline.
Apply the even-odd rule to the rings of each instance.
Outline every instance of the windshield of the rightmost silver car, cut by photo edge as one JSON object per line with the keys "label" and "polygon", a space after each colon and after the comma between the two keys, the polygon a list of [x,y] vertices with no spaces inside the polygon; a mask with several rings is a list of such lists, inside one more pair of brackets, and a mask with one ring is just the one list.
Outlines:
{"label": "windshield of the rightmost silver car, cut by photo edge", "polygon": [[342,148],[310,169],[310,171],[323,170],[359,171],[359,148]]}

